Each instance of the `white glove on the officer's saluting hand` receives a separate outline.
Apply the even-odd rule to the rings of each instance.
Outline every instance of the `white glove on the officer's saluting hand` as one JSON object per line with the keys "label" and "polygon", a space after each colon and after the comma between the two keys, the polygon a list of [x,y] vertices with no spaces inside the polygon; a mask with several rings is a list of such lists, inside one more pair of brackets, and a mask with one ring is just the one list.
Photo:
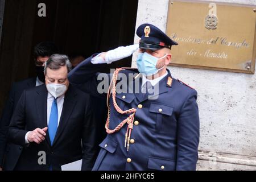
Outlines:
{"label": "white glove on the officer's saluting hand", "polygon": [[113,50],[110,50],[106,53],[105,61],[110,64],[114,61],[121,60],[125,57],[131,56],[137,49],[139,48],[139,44],[134,44],[126,47],[118,47]]}

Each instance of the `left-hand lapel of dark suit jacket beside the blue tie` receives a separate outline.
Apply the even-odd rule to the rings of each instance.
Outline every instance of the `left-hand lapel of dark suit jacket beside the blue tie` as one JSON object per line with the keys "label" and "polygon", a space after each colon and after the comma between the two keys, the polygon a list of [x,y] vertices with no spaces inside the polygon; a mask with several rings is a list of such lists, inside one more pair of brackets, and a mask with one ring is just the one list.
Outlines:
{"label": "left-hand lapel of dark suit jacket beside the blue tie", "polygon": [[[37,94],[38,97],[35,98],[35,104],[36,104],[36,111],[38,114],[38,122],[39,122],[39,128],[43,129],[44,127],[47,127],[47,94],[48,91],[46,89],[46,85],[40,86],[41,88],[38,90]],[[46,132],[46,141],[48,142],[49,146],[51,146],[51,142],[49,139],[49,133]]]}

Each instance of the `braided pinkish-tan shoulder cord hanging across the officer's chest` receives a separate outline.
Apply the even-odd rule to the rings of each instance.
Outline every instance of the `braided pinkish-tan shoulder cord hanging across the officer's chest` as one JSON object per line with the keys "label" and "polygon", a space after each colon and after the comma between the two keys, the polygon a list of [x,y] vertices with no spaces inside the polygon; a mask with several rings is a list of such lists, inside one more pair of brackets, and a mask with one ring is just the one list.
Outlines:
{"label": "braided pinkish-tan shoulder cord hanging across the officer's chest", "polygon": [[[115,69],[112,81],[110,82],[110,85],[109,85],[108,97],[107,97],[107,105],[109,107],[109,111],[108,111],[108,118],[106,120],[105,129],[106,129],[106,133],[113,134],[113,133],[119,131],[123,127],[123,125],[128,123],[126,134],[125,134],[125,147],[126,147],[126,144],[127,144],[127,151],[129,151],[131,131],[133,130],[134,115],[135,115],[137,109],[131,108],[129,110],[123,111],[117,105],[117,102],[115,100],[117,76],[118,76],[118,72],[122,71],[122,70],[124,70],[124,69],[122,69],[122,68]],[[110,99],[110,95],[111,95],[111,89],[113,91],[112,98],[113,98],[113,105],[114,105],[115,110],[117,110],[118,113],[120,113],[120,114],[130,114],[129,117],[127,117],[121,123],[119,123],[119,125],[117,127],[115,127],[114,130],[109,129],[109,122],[110,122],[110,103],[109,103],[109,99]]]}

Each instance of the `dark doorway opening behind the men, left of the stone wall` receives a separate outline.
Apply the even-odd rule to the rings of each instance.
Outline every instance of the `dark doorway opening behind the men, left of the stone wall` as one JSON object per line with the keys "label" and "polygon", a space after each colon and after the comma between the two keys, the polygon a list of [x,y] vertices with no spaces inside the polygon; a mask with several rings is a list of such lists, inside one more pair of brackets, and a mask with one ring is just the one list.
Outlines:
{"label": "dark doorway opening behind the men, left of the stone wall", "polygon": [[[46,17],[38,4],[46,4]],[[138,0],[7,0],[0,45],[0,114],[11,83],[35,76],[33,47],[53,41],[60,53],[95,52],[133,44]],[[130,67],[131,57],[108,65]]]}

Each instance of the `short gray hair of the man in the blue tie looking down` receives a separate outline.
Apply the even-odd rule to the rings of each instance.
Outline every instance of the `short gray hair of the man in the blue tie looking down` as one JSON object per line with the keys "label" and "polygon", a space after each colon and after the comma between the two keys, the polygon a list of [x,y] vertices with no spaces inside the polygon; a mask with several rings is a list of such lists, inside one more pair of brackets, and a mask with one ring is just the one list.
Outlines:
{"label": "short gray hair of the man in the blue tie looking down", "polygon": [[44,73],[46,73],[47,68],[56,70],[64,66],[67,66],[68,73],[72,70],[72,64],[70,63],[68,56],[60,54],[51,55],[44,66]]}

